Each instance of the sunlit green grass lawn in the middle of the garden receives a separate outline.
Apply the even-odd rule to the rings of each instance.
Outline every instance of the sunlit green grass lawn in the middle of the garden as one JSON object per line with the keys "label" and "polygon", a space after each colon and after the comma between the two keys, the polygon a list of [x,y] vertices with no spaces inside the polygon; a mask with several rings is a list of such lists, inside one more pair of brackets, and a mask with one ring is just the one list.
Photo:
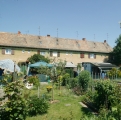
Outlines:
{"label": "sunlit green grass lawn in the middle of the garden", "polygon": [[[89,113],[78,103],[80,96],[74,95],[65,87],[61,87],[61,95],[59,95],[59,89],[54,87],[54,102],[51,103],[52,92],[48,93],[46,86],[40,86],[40,96],[50,97],[48,113],[27,117],[27,120],[80,120],[84,114]],[[37,89],[31,90],[31,95],[37,95]]]}

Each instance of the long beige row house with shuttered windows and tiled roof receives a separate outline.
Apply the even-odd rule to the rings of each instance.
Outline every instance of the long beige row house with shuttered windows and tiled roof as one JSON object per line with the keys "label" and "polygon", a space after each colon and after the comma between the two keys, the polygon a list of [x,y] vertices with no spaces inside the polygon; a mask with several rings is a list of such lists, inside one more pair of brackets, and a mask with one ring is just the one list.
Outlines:
{"label": "long beige row house with shuttered windows and tiled roof", "polygon": [[33,54],[56,58],[77,65],[82,62],[104,63],[113,49],[106,40],[103,42],[34,36],[0,32],[0,60],[12,59],[17,63],[26,62]]}

